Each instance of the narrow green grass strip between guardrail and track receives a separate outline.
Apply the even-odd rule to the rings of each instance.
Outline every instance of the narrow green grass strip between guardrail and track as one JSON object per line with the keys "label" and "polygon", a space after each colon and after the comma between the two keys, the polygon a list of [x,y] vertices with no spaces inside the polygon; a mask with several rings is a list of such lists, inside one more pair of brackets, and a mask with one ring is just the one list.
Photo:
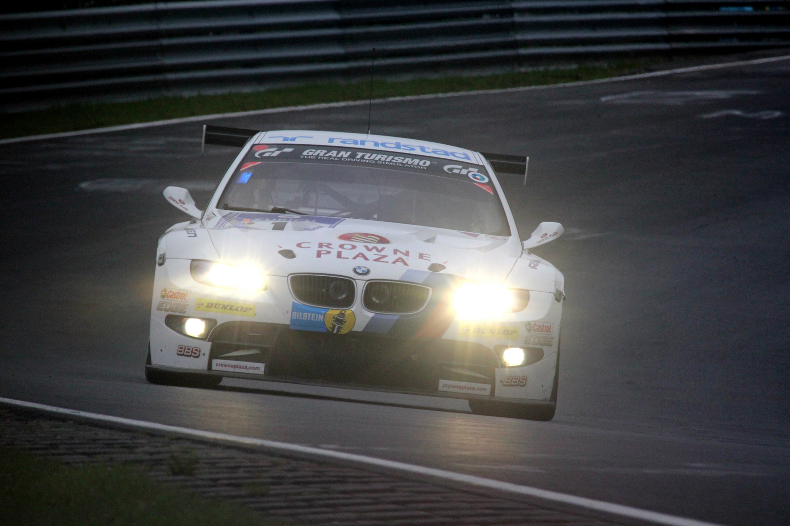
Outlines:
{"label": "narrow green grass strip between guardrail and track", "polygon": [[[373,96],[377,99],[428,93],[474,91],[481,89],[517,88],[542,84],[562,84],[578,80],[594,80],[609,76],[644,71],[646,67],[665,62],[665,58],[619,61],[579,65],[573,68],[535,69],[532,71],[498,73],[478,76],[440,76],[411,80],[376,80]],[[126,103],[71,104],[47,110],[2,114],[0,139],[71,132],[135,122],[224,114],[235,111],[265,110],[283,106],[336,103],[367,99],[367,80],[348,83],[307,84],[250,93],[161,97]]]}

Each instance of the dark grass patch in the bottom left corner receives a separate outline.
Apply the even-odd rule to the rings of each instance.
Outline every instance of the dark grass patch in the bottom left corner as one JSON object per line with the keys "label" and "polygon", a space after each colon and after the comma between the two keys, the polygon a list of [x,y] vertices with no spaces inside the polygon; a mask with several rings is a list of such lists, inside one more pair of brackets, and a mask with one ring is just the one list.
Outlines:
{"label": "dark grass patch in the bottom left corner", "polygon": [[0,448],[0,524],[283,526],[254,510],[157,483],[131,466],[72,467]]}

